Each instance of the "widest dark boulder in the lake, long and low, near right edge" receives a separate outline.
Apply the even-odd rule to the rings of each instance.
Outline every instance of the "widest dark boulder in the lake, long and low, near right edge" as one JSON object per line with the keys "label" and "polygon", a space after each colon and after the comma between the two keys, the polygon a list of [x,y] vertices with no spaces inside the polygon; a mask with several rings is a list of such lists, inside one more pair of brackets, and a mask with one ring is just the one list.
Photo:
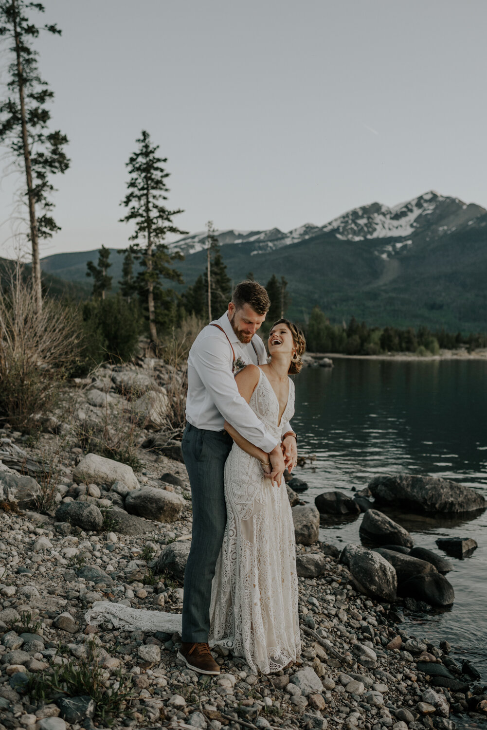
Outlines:
{"label": "widest dark boulder in the lake, long and low, near right edge", "polygon": [[377,502],[399,504],[419,512],[472,512],[487,507],[486,499],[478,492],[437,477],[375,477],[369,489]]}

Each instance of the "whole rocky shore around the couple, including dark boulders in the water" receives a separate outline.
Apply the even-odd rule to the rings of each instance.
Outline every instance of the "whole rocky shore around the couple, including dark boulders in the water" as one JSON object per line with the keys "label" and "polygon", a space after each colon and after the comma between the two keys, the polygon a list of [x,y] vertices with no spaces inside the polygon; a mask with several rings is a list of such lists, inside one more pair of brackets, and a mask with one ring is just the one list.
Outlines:
{"label": "whole rocky shore around the couple, including dark boulders in the water", "polygon": [[[184,385],[185,362],[147,357],[147,346],[139,342],[126,364],[65,380],[30,434],[3,419],[0,730],[421,730],[480,721],[487,692],[475,666],[448,636],[435,645],[421,628],[402,629],[410,612],[452,602],[454,610],[448,561],[412,547],[382,511],[398,489],[419,510],[485,508],[444,480],[379,477],[355,499],[324,492],[315,505],[289,480],[303,650],[276,675],[253,675],[217,647],[221,675],[199,677],[176,657],[179,634],[127,629],[115,616],[99,623],[101,601],[182,610],[191,491],[175,383]],[[344,510],[365,514],[356,544],[340,552],[320,541],[319,525]],[[446,547],[463,555],[475,545]]]}

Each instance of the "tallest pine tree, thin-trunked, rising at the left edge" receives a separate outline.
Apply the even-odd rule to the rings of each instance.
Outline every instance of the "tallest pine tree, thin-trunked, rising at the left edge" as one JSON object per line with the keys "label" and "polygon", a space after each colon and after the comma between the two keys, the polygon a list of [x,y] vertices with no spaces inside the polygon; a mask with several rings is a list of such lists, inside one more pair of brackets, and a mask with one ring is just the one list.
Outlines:
{"label": "tallest pine tree, thin-trunked, rising at the left edge", "polygon": [[50,193],[53,185],[50,174],[64,173],[69,158],[64,153],[68,139],[61,131],[47,131],[50,111],[47,102],[53,99],[53,91],[39,76],[38,53],[32,41],[44,29],[61,35],[55,25],[42,28],[29,20],[31,9],[44,12],[40,3],[27,0],[0,0],[0,37],[11,39],[8,48],[12,54],[7,81],[7,99],[0,104],[0,143],[9,147],[19,167],[26,175],[26,199],[28,204],[29,233],[32,249],[32,281],[36,307],[42,309],[41,266],[39,239],[52,237],[60,230],[50,210],[53,203]]}

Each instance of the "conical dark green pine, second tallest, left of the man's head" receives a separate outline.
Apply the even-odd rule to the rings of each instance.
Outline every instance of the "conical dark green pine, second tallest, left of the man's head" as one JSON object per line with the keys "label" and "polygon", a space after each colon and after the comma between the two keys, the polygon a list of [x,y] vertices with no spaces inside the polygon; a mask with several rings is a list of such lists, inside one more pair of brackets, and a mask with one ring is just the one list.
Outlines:
{"label": "conical dark green pine, second tallest, left of the man's head", "polygon": [[137,274],[136,283],[139,297],[147,304],[149,315],[150,337],[157,342],[156,303],[159,307],[166,309],[169,304],[167,292],[161,285],[161,277],[183,283],[180,272],[172,268],[173,261],[182,260],[180,253],[170,254],[167,246],[163,243],[166,234],[185,234],[188,231],[181,231],[172,223],[172,218],[183,210],[168,210],[160,201],[167,200],[166,177],[169,172],[164,170],[162,164],[167,158],[156,155],[159,145],[151,145],[150,136],[147,131],[142,130],[142,135],[136,140],[139,148],[134,152],[126,167],[129,169],[129,183],[125,199],[122,205],[129,209],[129,212],[121,218],[123,223],[134,221],[135,231],[129,240],[131,253],[136,261],[142,264],[142,270]]}

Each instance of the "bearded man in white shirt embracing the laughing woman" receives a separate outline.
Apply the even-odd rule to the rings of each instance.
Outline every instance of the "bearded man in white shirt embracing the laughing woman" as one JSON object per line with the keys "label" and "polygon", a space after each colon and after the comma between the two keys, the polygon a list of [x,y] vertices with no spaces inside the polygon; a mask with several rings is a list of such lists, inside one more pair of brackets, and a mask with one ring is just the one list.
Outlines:
{"label": "bearded man in white shirt embracing the laughing woman", "polygon": [[279,483],[284,469],[296,464],[296,434],[290,424],[283,426],[282,444],[276,443],[240,396],[234,380],[234,372],[243,366],[266,362],[264,342],[253,336],[269,306],[263,286],[255,281],[239,283],[228,311],[202,329],[188,356],[182,446],[191,483],[193,534],[184,576],[183,643],[178,656],[205,675],[220,673],[207,642],[211,583],[226,526],[223,467],[233,443],[223,430],[224,420],[269,454],[269,478]]}

